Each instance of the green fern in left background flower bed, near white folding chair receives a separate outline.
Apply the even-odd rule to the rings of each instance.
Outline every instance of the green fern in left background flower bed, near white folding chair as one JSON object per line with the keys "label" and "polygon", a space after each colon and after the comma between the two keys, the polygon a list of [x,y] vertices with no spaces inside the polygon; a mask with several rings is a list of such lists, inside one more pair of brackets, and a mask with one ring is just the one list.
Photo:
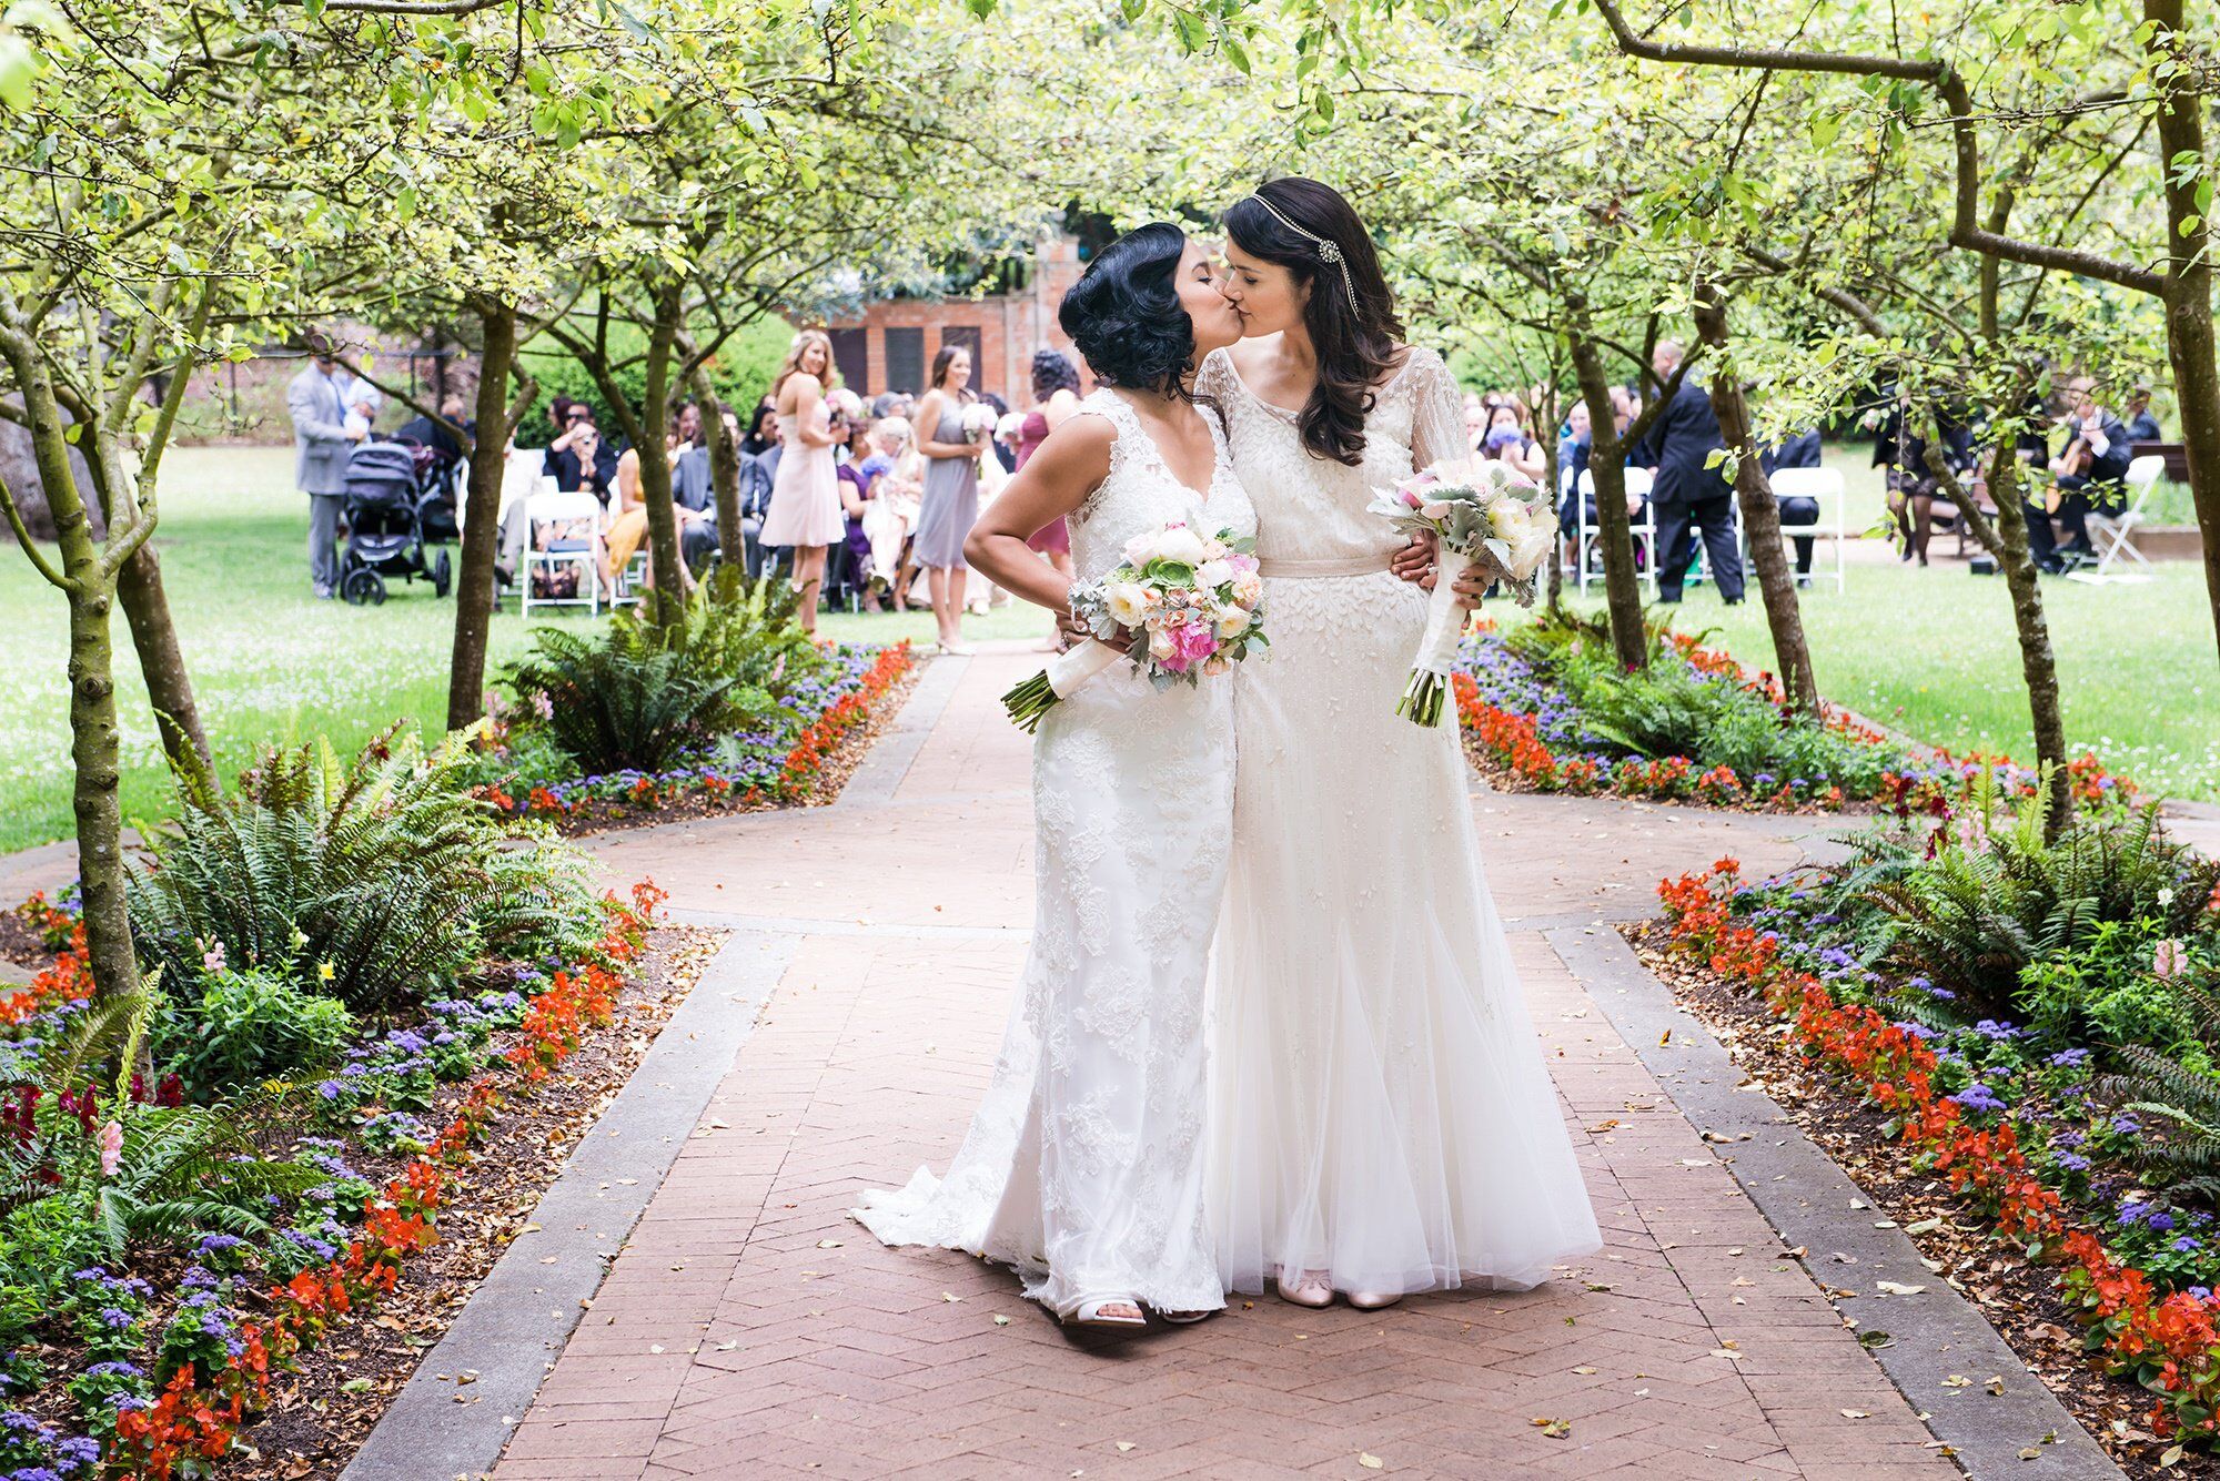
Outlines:
{"label": "green fern in left background flower bed, near white folding chair", "polygon": [[773,716],[819,663],[775,585],[719,570],[693,596],[650,594],[591,636],[539,627],[506,681],[582,772],[662,772]]}

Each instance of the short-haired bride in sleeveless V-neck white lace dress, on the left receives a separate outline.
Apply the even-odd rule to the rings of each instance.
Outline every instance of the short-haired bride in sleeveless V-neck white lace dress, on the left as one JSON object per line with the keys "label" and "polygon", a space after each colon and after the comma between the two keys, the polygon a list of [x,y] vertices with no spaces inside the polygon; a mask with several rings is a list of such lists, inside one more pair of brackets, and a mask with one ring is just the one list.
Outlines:
{"label": "short-haired bride in sleeveless V-neck white lace dress, on the left", "polygon": [[[1166,523],[1257,528],[1217,419],[1188,399],[1241,337],[1199,246],[1170,224],[1099,253],[1063,333],[1103,386],[981,514],[966,556],[1070,616],[1072,576],[1026,548],[1068,519],[1081,581]],[[1232,681],[1157,692],[1119,663],[1041,721],[1032,752],[1032,953],[986,1100],[946,1177],[866,1193],[886,1244],[1019,1268],[1066,1321],[1141,1326],[1225,1304],[1203,1219],[1203,984],[1232,842]]]}

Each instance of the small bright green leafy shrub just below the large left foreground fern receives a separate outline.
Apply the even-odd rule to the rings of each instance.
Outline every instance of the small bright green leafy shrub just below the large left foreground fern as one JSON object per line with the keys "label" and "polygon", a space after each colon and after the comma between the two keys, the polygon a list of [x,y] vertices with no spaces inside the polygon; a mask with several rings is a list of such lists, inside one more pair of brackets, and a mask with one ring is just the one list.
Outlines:
{"label": "small bright green leafy shrub just below the large left foreground fern", "polygon": [[193,998],[169,998],[153,1022],[155,1062],[195,1100],[333,1064],[355,1035],[346,1004],[264,967],[211,971]]}

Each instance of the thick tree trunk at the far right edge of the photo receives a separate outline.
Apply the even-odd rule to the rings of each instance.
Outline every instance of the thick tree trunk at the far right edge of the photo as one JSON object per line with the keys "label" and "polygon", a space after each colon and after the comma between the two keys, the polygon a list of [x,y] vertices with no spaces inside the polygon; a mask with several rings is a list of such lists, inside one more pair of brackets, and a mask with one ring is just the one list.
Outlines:
{"label": "thick tree trunk at the far right edge of the photo", "polygon": [[[2151,22],[2145,42],[2156,62],[2158,157],[2196,160],[2198,168],[2160,171],[2167,193],[2167,359],[2173,364],[2173,395],[2182,408],[2182,452],[2189,459],[2189,494],[2204,534],[2204,594],[2211,603],[2213,641],[2220,643],[2220,366],[2213,364],[2213,264],[2211,213],[2198,206],[2198,188],[2209,184],[2204,166],[2204,98],[2187,55],[2182,0],[2145,0]],[[2184,49],[2176,55],[2176,40]]]}

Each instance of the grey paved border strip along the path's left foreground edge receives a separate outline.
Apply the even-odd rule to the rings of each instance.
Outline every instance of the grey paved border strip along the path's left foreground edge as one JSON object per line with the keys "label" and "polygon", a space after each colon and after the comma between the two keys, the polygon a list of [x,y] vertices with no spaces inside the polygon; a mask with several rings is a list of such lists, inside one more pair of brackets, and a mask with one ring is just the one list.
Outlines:
{"label": "grey paved border strip along the path's left foreground edge", "polygon": [[[488,1474],[586,1315],[642,1211],[755,1031],[795,936],[735,931],[646,1058],[342,1472],[342,1481]],[[475,1375],[460,1383],[462,1375]]]}

